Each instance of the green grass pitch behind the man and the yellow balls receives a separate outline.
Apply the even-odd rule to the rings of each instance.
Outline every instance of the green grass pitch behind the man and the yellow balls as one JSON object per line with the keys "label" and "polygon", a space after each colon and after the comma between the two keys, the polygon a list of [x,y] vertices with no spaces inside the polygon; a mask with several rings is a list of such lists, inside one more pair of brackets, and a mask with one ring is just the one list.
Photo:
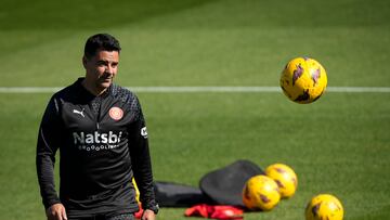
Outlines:
{"label": "green grass pitch behind the man and the yellow balls", "polygon": [[[86,39],[122,46],[126,87],[278,86],[288,60],[308,55],[329,87],[389,87],[390,1],[3,0],[0,87],[65,87],[83,76]],[[138,93],[155,179],[197,186],[236,159],[291,166],[296,195],[247,220],[304,219],[318,193],[347,220],[390,217],[390,93],[327,92],[299,105],[280,93]],[[50,93],[0,93],[0,219],[44,219],[35,170]],[[158,219],[187,219],[162,208]],[[197,219],[197,218],[192,218]]]}

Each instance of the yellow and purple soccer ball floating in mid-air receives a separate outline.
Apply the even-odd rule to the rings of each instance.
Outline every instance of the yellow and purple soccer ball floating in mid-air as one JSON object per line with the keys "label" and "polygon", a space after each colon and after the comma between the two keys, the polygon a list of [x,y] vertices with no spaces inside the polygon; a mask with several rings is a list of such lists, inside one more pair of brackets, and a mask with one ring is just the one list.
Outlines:
{"label": "yellow and purple soccer ball floating in mid-air", "polygon": [[282,90],[288,99],[297,103],[316,101],[325,92],[326,85],[325,68],[313,59],[292,59],[282,72]]}

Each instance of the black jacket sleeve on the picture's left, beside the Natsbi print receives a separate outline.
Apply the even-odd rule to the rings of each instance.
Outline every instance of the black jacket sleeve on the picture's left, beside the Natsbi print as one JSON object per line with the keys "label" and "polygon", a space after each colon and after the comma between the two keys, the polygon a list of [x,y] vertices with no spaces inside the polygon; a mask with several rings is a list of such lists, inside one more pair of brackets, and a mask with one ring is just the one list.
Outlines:
{"label": "black jacket sleeve on the picture's left, beside the Natsbi print", "polygon": [[58,103],[52,98],[43,114],[38,131],[36,167],[42,203],[48,209],[51,205],[61,203],[54,184],[55,153],[60,142]]}

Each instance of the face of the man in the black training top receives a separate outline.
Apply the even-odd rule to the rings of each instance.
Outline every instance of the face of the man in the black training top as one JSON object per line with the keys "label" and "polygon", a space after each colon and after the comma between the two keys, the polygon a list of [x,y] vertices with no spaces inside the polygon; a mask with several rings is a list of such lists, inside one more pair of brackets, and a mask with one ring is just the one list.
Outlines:
{"label": "face of the man in the black training top", "polygon": [[118,72],[119,52],[98,50],[90,59],[82,59],[86,68],[86,79],[96,91],[104,91],[108,88]]}

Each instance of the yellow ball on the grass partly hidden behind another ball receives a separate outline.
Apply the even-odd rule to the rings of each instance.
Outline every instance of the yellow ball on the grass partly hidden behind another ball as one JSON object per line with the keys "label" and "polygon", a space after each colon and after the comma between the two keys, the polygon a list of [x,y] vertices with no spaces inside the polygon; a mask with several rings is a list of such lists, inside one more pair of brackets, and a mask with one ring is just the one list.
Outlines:
{"label": "yellow ball on the grass partly hidden behind another ball", "polygon": [[276,182],[283,198],[289,198],[295,194],[298,178],[290,167],[284,164],[273,164],[266,167],[265,174]]}

